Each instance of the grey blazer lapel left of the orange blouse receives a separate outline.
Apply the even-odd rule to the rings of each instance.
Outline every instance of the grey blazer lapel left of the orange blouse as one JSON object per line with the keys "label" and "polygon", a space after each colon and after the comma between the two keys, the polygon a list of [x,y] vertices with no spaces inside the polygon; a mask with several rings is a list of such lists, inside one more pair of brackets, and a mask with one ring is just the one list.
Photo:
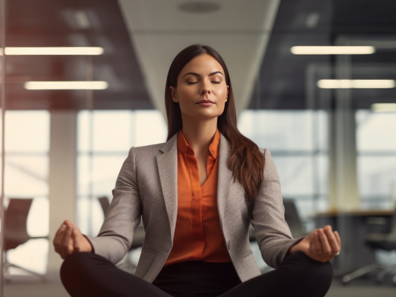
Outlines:
{"label": "grey blazer lapel left of the orange blouse", "polygon": [[177,217],[177,135],[178,133],[160,148],[162,154],[157,156],[158,174],[168,214],[172,241]]}

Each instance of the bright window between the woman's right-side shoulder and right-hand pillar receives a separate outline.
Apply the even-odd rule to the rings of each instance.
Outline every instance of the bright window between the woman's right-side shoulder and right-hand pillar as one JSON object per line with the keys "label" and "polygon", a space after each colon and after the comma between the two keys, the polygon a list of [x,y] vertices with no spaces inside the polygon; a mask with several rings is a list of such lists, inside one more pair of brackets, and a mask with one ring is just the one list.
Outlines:
{"label": "bright window between the woman's right-side shoulder and right-hand pillar", "polygon": [[284,198],[297,201],[301,216],[327,209],[328,125],[324,111],[245,110],[239,130],[269,148]]}

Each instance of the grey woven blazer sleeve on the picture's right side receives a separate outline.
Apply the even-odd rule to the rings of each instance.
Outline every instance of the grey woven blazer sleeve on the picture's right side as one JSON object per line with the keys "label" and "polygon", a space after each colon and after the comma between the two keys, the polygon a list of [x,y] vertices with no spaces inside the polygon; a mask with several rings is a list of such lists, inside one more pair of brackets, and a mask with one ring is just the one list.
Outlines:
{"label": "grey woven blazer sleeve on the picture's right side", "polygon": [[264,261],[276,268],[289,248],[302,238],[293,239],[285,221],[278,171],[268,148],[264,149],[264,158],[264,176],[259,193],[253,201],[251,224]]}

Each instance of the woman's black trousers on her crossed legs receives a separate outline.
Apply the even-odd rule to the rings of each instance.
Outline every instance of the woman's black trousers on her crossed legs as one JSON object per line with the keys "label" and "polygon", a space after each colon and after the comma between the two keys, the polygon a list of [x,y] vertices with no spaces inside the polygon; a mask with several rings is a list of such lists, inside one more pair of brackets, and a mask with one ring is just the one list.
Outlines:
{"label": "woman's black trousers on her crossed legs", "polygon": [[[193,274],[194,271],[200,273],[200,269],[201,271],[205,269],[204,265],[213,264],[194,262],[197,263],[190,263]],[[244,283],[240,283],[235,277],[235,270],[230,272],[229,268],[233,269],[232,266],[227,268],[228,264],[232,265],[231,263],[215,264],[212,266],[213,269],[203,275],[208,280],[212,277],[217,278],[215,275],[219,274],[218,269],[228,271],[220,276],[224,280],[220,287],[213,287],[210,281],[208,286],[202,286],[199,282],[205,281],[205,278],[199,277],[197,273],[184,278],[191,280],[190,284],[183,283],[183,278],[181,284],[178,284],[173,277],[173,272],[178,270],[177,264],[164,267],[153,284],[150,284],[117,268],[99,255],[85,252],[68,256],[60,269],[60,276],[64,287],[72,297],[219,296],[218,290],[224,292],[220,294],[221,297],[322,297],[328,291],[333,278],[333,269],[329,262],[317,262],[301,252],[286,257],[279,268]],[[169,268],[171,266],[173,267]],[[185,269],[187,265],[182,264],[179,269],[180,267]],[[185,271],[182,271],[182,274],[187,275]],[[198,283],[194,284],[195,280]]]}

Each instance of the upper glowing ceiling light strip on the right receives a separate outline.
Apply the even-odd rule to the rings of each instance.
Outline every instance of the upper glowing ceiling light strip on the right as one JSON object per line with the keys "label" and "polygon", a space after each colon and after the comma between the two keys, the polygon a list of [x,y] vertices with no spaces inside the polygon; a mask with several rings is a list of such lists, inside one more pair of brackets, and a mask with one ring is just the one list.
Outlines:
{"label": "upper glowing ceiling light strip on the right", "polygon": [[372,54],[375,52],[374,47],[366,46],[354,46],[354,47],[292,47],[290,51],[293,54]]}

